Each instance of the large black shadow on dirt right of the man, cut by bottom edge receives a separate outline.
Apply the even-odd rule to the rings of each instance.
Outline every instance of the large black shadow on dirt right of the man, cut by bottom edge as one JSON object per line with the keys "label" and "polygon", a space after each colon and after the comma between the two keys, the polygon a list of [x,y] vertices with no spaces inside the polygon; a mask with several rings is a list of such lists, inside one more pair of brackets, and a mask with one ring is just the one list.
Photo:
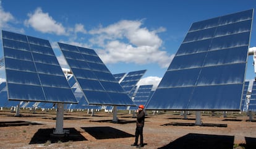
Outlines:
{"label": "large black shadow on dirt right of the man, cut by bottom edge", "polygon": [[234,136],[187,134],[158,149],[231,149]]}

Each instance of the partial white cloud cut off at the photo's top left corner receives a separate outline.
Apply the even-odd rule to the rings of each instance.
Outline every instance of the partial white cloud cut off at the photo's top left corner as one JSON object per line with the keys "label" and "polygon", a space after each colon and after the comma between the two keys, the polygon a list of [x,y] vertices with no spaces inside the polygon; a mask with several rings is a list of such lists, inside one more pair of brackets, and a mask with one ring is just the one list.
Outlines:
{"label": "partial white cloud cut off at the photo's top left corner", "polygon": [[10,12],[5,12],[0,1],[0,28],[8,27],[8,22],[14,21],[14,16]]}

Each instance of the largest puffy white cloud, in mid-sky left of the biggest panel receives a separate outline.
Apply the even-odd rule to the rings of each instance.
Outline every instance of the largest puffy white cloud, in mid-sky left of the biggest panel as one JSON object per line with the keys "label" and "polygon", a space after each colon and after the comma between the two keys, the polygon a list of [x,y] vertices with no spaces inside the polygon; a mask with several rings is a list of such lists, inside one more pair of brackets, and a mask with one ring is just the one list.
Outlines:
{"label": "largest puffy white cloud, in mid-sky left of the biggest panel", "polygon": [[90,41],[104,48],[98,50],[98,54],[106,64],[158,63],[161,67],[168,67],[174,55],[169,56],[160,50],[163,41],[156,34],[164,32],[165,28],[150,31],[141,26],[142,20],[121,20],[105,28],[90,30],[89,33],[95,36]]}

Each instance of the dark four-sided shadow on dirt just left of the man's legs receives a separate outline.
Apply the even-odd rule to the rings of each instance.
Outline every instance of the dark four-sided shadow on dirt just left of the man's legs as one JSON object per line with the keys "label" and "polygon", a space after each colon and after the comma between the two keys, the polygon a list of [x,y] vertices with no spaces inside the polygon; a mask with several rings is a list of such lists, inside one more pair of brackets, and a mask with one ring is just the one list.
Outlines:
{"label": "dark four-sided shadow on dirt just left of the man's legs", "polygon": [[132,134],[114,129],[113,127],[82,127],[82,129],[96,139],[134,137]]}

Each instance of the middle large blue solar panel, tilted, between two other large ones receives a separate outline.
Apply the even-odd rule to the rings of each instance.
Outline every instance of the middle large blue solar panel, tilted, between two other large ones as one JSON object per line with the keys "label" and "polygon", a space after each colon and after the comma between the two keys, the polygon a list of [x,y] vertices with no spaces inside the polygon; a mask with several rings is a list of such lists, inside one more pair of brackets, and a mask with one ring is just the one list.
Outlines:
{"label": "middle large blue solar panel, tilted, between two other large ones", "polygon": [[134,105],[93,49],[58,44],[88,104]]}

